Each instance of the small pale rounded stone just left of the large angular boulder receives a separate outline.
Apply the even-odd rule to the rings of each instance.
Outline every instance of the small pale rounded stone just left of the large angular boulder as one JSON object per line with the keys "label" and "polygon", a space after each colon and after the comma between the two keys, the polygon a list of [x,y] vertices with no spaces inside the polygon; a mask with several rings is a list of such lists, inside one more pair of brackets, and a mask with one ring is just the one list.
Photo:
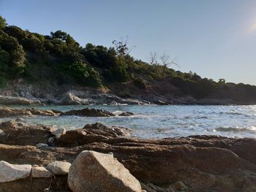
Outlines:
{"label": "small pale rounded stone just left of the large angular boulder", "polygon": [[53,174],[62,175],[68,174],[70,166],[71,164],[69,162],[54,161],[53,163],[48,164],[46,169],[53,172]]}

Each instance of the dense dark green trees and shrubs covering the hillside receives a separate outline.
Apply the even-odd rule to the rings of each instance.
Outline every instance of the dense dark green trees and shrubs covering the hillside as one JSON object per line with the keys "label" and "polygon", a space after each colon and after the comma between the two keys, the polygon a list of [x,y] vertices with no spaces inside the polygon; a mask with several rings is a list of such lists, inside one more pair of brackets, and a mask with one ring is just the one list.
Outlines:
{"label": "dense dark green trees and shrubs covering the hillside", "polygon": [[[17,78],[91,87],[132,81],[140,89],[154,82],[167,82],[195,98],[230,89],[256,96],[256,87],[252,85],[226,83],[223,79],[214,82],[192,72],[175,71],[164,62],[148,64],[136,60],[129,54],[126,42],[113,41],[113,47],[91,43],[81,47],[64,31],[50,35],[32,33],[8,26],[0,16],[0,86]],[[228,98],[225,93],[222,97]]]}

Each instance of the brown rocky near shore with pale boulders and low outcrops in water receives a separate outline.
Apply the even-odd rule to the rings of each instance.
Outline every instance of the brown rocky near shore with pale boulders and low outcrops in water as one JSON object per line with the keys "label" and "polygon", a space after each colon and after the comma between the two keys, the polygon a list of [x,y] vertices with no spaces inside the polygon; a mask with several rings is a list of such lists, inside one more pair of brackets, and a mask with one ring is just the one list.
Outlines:
{"label": "brown rocky near shore with pale boulders and low outcrops in water", "polygon": [[0,124],[1,192],[256,191],[256,139],[137,139],[101,123],[67,131],[17,118],[60,114],[1,108],[13,118]]}

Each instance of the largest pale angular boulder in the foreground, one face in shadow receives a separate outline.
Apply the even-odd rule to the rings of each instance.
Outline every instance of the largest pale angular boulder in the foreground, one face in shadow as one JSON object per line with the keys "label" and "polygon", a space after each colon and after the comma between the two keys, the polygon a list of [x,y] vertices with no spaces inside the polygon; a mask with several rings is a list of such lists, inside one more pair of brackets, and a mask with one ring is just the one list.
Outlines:
{"label": "largest pale angular boulder in the foreground, one face in shadow", "polygon": [[85,150],[70,166],[68,185],[78,191],[141,191],[138,180],[113,155]]}

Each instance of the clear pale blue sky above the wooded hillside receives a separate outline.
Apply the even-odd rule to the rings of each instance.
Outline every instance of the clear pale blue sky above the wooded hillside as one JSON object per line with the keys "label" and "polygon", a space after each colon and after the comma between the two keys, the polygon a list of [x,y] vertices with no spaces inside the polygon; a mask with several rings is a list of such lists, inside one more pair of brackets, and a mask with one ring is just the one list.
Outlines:
{"label": "clear pale blue sky above the wooded hillside", "polygon": [[129,37],[135,58],[178,58],[173,68],[256,85],[255,0],[0,0],[10,25],[40,34],[61,29],[80,45]]}

